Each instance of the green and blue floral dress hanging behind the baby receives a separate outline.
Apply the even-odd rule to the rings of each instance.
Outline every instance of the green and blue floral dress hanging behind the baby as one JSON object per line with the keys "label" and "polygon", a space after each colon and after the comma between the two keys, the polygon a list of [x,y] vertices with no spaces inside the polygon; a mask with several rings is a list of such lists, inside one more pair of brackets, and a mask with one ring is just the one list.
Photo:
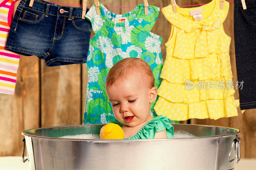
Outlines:
{"label": "green and blue floral dress hanging behind the baby", "polygon": [[[154,74],[155,87],[162,79],[163,67],[161,55],[162,37],[151,33],[159,14],[159,8],[148,6],[148,15],[144,14],[144,5],[138,5],[133,11],[117,15],[100,4],[100,15],[95,5],[85,17],[92,23],[95,36],[90,40],[87,57],[88,85],[83,124],[101,124],[114,120],[114,114],[105,92],[105,82],[110,68],[127,57],[137,57],[146,61]],[[155,102],[156,103],[156,102]],[[156,117],[151,104],[151,115]]]}

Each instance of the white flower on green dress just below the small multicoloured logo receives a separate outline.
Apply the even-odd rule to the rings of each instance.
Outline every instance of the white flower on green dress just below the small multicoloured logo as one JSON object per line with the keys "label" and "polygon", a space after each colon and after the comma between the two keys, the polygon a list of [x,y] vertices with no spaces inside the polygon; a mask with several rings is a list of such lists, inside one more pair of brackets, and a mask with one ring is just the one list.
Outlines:
{"label": "white flower on green dress just below the small multicoloured logo", "polygon": [[116,26],[114,27],[114,30],[116,31],[116,34],[120,35],[122,38],[122,44],[127,44],[128,42],[131,42],[131,32],[134,26]]}

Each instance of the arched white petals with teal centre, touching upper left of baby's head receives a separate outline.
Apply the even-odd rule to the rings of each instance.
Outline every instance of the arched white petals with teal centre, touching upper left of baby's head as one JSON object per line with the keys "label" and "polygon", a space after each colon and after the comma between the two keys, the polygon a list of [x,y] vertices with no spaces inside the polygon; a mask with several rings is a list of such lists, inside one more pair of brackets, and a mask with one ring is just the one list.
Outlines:
{"label": "arched white petals with teal centre, touching upper left of baby's head", "polygon": [[121,48],[116,48],[116,49],[113,49],[113,51],[106,56],[105,64],[108,68],[111,68],[115,64],[113,63],[113,59],[116,60],[117,62],[117,60],[121,60],[127,57],[128,56],[126,52],[123,52]]}

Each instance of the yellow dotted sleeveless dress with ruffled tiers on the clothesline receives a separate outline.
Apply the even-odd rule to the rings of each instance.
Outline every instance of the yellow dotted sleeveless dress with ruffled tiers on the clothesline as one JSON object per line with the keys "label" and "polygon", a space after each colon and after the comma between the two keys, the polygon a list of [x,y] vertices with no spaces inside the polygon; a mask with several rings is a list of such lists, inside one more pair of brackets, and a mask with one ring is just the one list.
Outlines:
{"label": "yellow dotted sleeveless dress with ruffled tiers on the clothesline", "polygon": [[[177,13],[172,5],[162,9],[172,30],[165,44],[156,114],[177,121],[237,116],[229,57],[231,38],[223,29],[229,3],[224,1],[223,10],[220,0],[196,8],[176,8]],[[197,8],[203,8],[202,21],[190,16],[189,10]],[[186,89],[186,81],[194,88]]]}

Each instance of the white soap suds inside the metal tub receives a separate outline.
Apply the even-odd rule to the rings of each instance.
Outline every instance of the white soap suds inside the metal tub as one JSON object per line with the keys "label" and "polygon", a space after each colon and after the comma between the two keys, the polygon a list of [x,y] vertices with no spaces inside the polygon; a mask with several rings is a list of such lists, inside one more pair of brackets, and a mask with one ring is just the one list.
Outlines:
{"label": "white soap suds inside the metal tub", "polygon": [[[187,137],[196,137],[191,133],[188,133],[184,130],[175,130],[173,133],[173,138],[187,138]],[[95,134],[81,134],[81,135],[68,135],[62,136],[60,138],[71,138],[71,139],[100,139],[100,135]]]}

